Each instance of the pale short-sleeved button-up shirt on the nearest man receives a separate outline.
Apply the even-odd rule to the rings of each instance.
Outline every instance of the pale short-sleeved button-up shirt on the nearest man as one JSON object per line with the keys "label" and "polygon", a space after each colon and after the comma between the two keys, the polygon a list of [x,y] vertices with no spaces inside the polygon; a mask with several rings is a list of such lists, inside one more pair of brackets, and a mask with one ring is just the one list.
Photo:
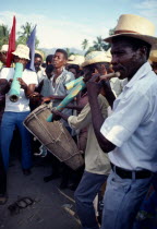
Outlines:
{"label": "pale short-sleeved button-up shirt on the nearest man", "polygon": [[143,64],[121,95],[100,132],[117,147],[112,164],[129,170],[157,171],[157,75]]}

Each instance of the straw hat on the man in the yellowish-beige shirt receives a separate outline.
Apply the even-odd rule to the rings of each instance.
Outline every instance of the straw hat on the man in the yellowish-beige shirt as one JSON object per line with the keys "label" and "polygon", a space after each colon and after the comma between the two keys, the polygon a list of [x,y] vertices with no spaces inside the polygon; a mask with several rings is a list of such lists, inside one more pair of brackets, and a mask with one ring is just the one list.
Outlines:
{"label": "straw hat on the man in the yellowish-beige shirt", "polygon": [[82,64],[82,67],[86,67],[93,63],[99,63],[99,62],[110,62],[111,61],[111,55],[110,52],[106,51],[92,51],[85,57],[85,61]]}

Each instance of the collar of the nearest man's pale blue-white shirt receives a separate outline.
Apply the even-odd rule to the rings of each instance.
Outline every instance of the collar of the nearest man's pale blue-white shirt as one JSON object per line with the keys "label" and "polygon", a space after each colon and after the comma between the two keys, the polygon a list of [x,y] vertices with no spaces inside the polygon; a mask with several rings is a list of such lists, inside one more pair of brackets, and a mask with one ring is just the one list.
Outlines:
{"label": "collar of the nearest man's pale blue-white shirt", "polygon": [[146,76],[148,72],[152,71],[152,67],[148,62],[144,63],[138,71],[134,74],[134,76],[129,81],[129,83],[124,86],[125,87],[132,87],[138,80]]}

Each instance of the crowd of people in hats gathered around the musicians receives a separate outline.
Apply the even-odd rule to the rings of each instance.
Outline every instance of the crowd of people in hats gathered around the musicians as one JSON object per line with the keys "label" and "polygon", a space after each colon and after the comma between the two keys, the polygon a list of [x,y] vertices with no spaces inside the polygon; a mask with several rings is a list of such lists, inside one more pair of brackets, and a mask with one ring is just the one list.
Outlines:
{"label": "crowd of people in hats gathered around the musicians", "polygon": [[[52,109],[75,141],[84,166],[72,171],[51,155],[49,181],[61,177],[60,189],[75,190],[74,200],[84,229],[142,229],[157,209],[157,38],[148,20],[131,14],[119,17],[114,35],[105,40],[108,51],[72,55],[57,49],[44,57],[35,53],[35,71],[29,70],[29,48],[17,45],[13,65],[7,68],[8,45],[0,50],[0,204],[8,201],[7,177],[14,130],[21,137],[21,164],[32,173],[33,155],[47,148],[33,141],[23,125],[26,117],[43,104],[57,107],[70,93],[65,85],[84,76],[86,87],[62,110]],[[15,74],[22,76],[17,101],[10,100]],[[110,73],[119,77],[109,77]],[[105,77],[108,75],[108,77]],[[111,74],[110,74],[111,75]],[[113,74],[112,74],[113,75]],[[116,76],[116,75],[114,75]],[[37,147],[36,147],[37,144]],[[36,152],[38,150],[38,152]],[[72,180],[69,185],[69,180]],[[104,188],[101,220],[94,202]],[[149,188],[152,192],[148,193]],[[152,224],[150,224],[152,222]]]}

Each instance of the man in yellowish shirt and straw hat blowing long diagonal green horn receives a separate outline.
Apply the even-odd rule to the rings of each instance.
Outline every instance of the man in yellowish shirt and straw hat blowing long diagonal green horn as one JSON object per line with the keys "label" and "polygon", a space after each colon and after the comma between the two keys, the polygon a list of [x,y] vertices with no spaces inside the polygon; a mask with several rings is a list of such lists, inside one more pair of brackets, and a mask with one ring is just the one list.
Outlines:
{"label": "man in yellowish shirt and straw hat blowing long diagonal green horn", "polygon": [[[100,75],[105,75],[109,71],[110,60],[111,57],[108,57],[105,51],[93,51],[85,57],[82,67],[85,72],[93,74],[97,72]],[[100,112],[104,119],[106,119],[109,104],[101,94],[98,96],[98,103]],[[52,112],[68,120],[72,129],[82,130],[88,128],[85,149],[85,171],[75,191],[75,204],[83,228],[98,229],[93,202],[101,185],[106,182],[111,168],[108,155],[104,154],[94,134],[89,104],[83,108],[78,116],[67,117],[56,110]]]}

